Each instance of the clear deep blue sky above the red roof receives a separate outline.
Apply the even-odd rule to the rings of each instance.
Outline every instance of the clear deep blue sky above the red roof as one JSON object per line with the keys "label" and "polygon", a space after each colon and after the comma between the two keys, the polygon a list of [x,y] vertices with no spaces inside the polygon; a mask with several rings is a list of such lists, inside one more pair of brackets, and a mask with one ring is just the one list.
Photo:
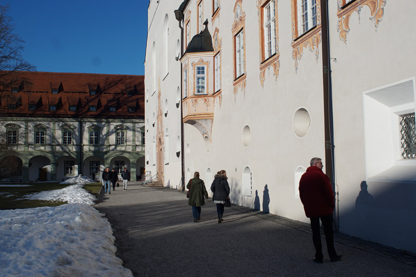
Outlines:
{"label": "clear deep blue sky above the red roof", "polygon": [[144,75],[148,0],[0,0],[8,3],[37,71]]}

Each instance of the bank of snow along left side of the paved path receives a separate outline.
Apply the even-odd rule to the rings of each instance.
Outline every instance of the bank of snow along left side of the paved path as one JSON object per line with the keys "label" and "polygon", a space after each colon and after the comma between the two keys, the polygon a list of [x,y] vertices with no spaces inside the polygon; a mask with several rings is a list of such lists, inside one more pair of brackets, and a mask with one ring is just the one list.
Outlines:
{"label": "bank of snow along left side of the paved path", "polygon": [[116,257],[108,220],[82,189],[92,180],[65,182],[74,185],[30,198],[69,204],[0,210],[0,276],[133,276]]}

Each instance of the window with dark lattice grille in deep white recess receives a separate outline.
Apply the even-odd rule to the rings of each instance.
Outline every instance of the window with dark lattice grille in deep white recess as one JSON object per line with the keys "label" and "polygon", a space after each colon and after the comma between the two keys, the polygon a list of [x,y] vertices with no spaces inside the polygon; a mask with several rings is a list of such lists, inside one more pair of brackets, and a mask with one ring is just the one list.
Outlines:
{"label": "window with dark lattice grille in deep white recess", "polygon": [[403,159],[416,159],[416,127],[414,113],[400,116],[400,134]]}

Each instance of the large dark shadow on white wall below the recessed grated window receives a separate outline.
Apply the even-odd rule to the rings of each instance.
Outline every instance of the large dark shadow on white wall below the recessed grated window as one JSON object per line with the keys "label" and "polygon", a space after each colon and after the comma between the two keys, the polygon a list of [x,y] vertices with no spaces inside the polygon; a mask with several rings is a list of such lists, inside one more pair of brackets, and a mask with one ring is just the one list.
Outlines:
{"label": "large dark shadow on white wall below the recessed grated window", "polygon": [[340,210],[341,232],[416,252],[416,182],[363,181],[360,188],[355,205]]}

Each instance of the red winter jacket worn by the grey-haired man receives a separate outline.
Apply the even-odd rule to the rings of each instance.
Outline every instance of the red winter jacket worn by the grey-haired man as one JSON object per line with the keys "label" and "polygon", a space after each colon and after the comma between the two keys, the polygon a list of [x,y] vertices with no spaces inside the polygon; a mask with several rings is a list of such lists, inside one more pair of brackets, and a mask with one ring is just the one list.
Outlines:
{"label": "red winter jacket worn by the grey-haired man", "polygon": [[299,195],[307,217],[332,214],[335,203],[331,182],[317,166],[308,167],[300,178]]}

